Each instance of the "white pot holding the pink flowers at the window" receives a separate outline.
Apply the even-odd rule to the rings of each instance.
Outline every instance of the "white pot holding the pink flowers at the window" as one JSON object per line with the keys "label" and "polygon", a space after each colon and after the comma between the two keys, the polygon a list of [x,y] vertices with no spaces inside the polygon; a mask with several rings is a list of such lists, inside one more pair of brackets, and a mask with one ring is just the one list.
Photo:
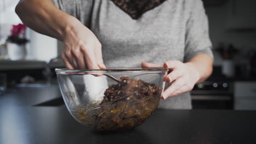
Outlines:
{"label": "white pot holding the pink flowers at the window", "polygon": [[25,59],[26,57],[25,45],[8,43],[7,49],[8,49],[8,57],[10,60],[17,61],[17,60]]}

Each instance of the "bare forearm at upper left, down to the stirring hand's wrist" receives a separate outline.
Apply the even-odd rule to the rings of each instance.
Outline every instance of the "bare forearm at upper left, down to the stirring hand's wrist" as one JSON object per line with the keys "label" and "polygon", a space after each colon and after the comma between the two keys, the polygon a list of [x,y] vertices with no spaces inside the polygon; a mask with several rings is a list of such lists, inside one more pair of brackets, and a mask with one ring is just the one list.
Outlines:
{"label": "bare forearm at upper left, down to the stirring hand's wrist", "polygon": [[22,0],[15,11],[22,22],[34,31],[61,41],[72,21],[78,21],[56,8],[51,0]]}

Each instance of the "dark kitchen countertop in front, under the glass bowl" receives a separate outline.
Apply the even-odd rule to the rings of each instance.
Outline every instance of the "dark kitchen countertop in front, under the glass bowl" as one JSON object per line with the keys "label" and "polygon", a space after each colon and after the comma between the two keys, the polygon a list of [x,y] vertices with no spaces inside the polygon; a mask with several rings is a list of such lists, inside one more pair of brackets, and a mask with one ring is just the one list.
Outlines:
{"label": "dark kitchen countertop in front, under the glass bowl", "polygon": [[32,106],[60,97],[57,88],[22,87],[0,96],[0,143],[256,143],[256,111],[158,109],[134,130],[97,133],[64,105]]}

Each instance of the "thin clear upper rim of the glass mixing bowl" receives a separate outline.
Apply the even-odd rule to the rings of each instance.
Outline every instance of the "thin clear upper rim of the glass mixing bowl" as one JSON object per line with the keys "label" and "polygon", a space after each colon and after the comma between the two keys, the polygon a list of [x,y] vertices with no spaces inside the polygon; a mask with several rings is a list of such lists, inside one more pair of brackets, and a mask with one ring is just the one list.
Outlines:
{"label": "thin clear upper rim of the glass mixing bowl", "polygon": [[106,73],[106,74],[158,74],[166,73],[167,68],[109,68],[109,69],[67,69],[67,68],[56,68],[56,74],[97,74],[97,73]]}

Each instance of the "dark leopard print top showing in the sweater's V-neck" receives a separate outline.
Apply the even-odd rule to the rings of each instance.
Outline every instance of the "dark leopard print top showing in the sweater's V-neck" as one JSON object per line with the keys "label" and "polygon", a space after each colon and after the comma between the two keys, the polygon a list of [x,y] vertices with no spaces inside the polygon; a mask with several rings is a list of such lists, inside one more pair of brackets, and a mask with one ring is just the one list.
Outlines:
{"label": "dark leopard print top showing in the sweater's V-neck", "polygon": [[166,0],[111,0],[120,9],[129,14],[132,19],[138,19],[148,10],[158,7]]}

